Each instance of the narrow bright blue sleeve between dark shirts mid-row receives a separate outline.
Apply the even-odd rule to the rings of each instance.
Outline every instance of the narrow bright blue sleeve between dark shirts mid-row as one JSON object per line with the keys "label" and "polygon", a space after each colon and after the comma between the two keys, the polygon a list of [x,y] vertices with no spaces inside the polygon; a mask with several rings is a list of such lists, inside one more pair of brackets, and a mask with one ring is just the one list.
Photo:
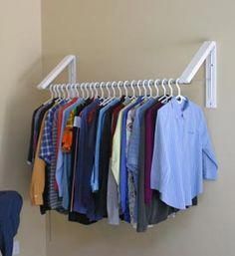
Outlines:
{"label": "narrow bright blue sleeve between dark shirts mid-row", "polygon": [[115,106],[119,101],[120,101],[119,99],[114,99],[111,103],[109,103],[107,106],[105,106],[100,111],[99,120],[98,120],[98,128],[97,128],[95,161],[94,161],[93,173],[92,173],[92,178],[91,178],[91,185],[92,185],[93,192],[96,192],[99,190],[100,147],[101,147],[101,139],[102,139],[102,130],[104,127],[105,113],[110,108]]}

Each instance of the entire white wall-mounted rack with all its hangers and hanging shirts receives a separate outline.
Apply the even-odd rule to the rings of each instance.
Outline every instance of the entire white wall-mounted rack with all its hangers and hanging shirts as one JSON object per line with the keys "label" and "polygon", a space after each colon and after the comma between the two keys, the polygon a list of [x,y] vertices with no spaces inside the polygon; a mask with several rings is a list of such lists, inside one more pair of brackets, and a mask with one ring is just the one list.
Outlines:
{"label": "entire white wall-mounted rack with all its hangers and hanging shirts", "polygon": [[[215,108],[213,41],[177,79],[78,83],[76,57],[67,56],[38,86],[51,99],[32,116],[32,204],[84,225],[125,221],[137,232],[197,205],[218,164],[203,111],[180,86],[204,62],[206,107]],[[55,84],[65,69],[68,83]]]}

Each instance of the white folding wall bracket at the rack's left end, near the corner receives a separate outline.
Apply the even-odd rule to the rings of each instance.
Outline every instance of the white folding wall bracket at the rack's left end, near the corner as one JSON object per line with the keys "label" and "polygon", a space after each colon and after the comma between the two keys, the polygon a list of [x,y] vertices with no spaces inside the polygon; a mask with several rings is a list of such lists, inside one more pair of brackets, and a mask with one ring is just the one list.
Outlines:
{"label": "white folding wall bracket at the rack's left end, near the corner", "polygon": [[54,70],[38,85],[38,89],[47,89],[58,76],[65,70],[69,70],[69,83],[75,84],[77,82],[77,70],[76,70],[76,56],[66,56]]}

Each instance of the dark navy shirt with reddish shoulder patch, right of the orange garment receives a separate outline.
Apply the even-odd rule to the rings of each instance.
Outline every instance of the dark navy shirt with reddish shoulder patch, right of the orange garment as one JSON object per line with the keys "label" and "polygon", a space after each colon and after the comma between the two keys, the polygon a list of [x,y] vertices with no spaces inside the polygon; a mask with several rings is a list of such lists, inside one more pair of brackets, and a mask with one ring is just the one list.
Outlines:
{"label": "dark navy shirt with reddish shoulder patch, right of the orange garment", "polygon": [[96,99],[81,113],[78,165],[75,175],[74,210],[86,214],[90,220],[96,220],[91,178],[96,149],[99,105],[100,101]]}

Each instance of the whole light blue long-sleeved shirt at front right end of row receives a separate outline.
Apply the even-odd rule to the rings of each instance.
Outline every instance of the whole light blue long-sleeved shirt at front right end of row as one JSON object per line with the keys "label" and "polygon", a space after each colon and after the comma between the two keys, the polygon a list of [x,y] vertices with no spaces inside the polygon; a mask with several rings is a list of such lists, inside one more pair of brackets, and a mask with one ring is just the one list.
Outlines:
{"label": "whole light blue long-sleeved shirt at front right end of row", "polygon": [[202,110],[173,98],[157,112],[151,188],[167,205],[185,209],[203,191],[203,179],[216,179],[217,161]]}

